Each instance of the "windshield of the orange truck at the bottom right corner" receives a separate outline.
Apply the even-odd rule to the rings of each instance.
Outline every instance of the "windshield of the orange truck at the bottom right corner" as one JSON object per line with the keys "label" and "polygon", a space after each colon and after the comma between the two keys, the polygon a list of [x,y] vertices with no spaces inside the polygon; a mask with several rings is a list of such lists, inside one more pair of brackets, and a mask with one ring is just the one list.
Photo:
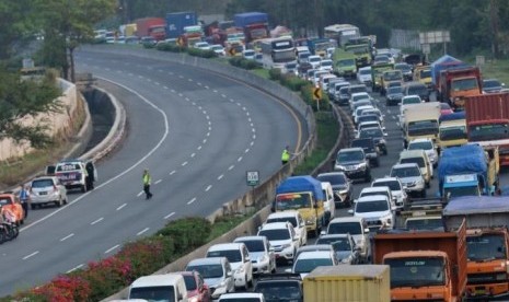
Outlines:
{"label": "windshield of the orange truck at the bottom right corner", "polygon": [[466,236],[466,253],[468,260],[506,259],[506,244],[502,234],[485,234]]}

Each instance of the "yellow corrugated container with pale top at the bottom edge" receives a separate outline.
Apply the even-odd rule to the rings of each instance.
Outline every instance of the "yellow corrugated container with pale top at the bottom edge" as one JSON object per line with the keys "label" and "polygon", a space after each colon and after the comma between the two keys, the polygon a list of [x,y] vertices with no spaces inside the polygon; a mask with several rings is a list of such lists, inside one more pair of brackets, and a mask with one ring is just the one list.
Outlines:
{"label": "yellow corrugated container with pale top at the bottom edge", "polygon": [[304,302],[389,302],[386,265],[320,266],[304,277]]}

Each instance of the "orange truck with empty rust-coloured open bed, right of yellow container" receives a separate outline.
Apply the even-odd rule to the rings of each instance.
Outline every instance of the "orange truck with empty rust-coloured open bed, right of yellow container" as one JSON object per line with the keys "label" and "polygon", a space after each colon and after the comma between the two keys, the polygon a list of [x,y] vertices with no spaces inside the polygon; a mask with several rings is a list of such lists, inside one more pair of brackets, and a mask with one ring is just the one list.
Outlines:
{"label": "orange truck with empty rust-coloured open bed, right of yellow container", "polygon": [[391,301],[461,301],[466,226],[454,232],[387,231],[372,236],[373,264],[390,266]]}

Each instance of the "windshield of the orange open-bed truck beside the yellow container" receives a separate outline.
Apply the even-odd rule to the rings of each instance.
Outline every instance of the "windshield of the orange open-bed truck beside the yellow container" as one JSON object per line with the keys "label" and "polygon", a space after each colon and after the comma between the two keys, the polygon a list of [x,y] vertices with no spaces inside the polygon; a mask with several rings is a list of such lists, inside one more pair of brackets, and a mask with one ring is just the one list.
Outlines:
{"label": "windshield of the orange open-bed truck beside the yellow container", "polygon": [[391,267],[391,288],[444,284],[446,270],[442,258],[393,258],[385,259],[384,264]]}

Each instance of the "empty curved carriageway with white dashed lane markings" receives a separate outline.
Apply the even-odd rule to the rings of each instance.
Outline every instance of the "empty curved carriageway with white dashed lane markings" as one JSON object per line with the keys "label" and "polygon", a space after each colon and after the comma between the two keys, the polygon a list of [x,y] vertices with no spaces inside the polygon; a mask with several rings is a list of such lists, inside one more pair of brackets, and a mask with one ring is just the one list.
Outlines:
{"label": "empty curved carriageway with white dashed lane markings", "polygon": [[[102,85],[124,104],[129,131],[97,164],[94,190],[70,194],[58,210],[31,211],[20,237],[2,245],[0,269],[9,274],[0,294],[84,268],[171,219],[211,213],[248,189],[246,171],[269,177],[284,146],[297,150],[306,140],[300,117],[239,81],[109,49],[81,51],[77,62],[78,71],[107,81]],[[150,200],[141,191],[143,169],[152,174]]]}

